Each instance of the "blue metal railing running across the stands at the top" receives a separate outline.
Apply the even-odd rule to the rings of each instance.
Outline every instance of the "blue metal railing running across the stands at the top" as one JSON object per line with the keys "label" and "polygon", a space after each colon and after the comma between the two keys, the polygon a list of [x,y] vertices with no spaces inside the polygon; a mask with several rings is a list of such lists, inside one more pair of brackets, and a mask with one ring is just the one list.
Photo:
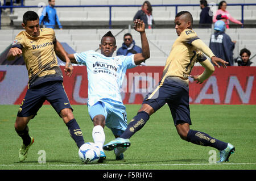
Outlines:
{"label": "blue metal railing running across the stands at the top", "polygon": [[[12,5],[11,1],[11,5]],[[23,2],[22,2],[23,4]],[[199,4],[187,4],[187,5],[151,5],[152,7],[175,7],[175,14],[177,14],[177,8],[181,6],[199,6]],[[218,6],[218,4],[211,4],[211,6]],[[244,6],[256,6],[256,3],[236,3],[236,4],[229,4],[229,6],[241,6],[241,22],[243,23],[243,7]],[[14,8],[29,8],[29,7],[39,7],[42,8],[42,5],[39,6],[5,6],[1,5],[0,2],[0,14],[2,9],[10,8],[11,11]],[[55,7],[109,7],[109,29],[112,28],[112,7],[141,7],[141,5],[67,5],[67,6],[55,6]],[[0,16],[0,30],[1,30],[1,16]]]}

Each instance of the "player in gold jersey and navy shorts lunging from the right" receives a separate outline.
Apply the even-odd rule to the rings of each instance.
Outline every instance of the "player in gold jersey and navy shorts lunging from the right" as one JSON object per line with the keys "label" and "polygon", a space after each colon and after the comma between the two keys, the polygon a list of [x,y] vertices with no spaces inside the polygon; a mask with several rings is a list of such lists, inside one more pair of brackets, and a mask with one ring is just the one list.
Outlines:
{"label": "player in gold jersey and navy shorts lunging from the right", "polygon": [[[224,68],[228,62],[214,56],[212,51],[199,39],[196,32],[192,30],[193,18],[190,12],[181,11],[175,18],[175,29],[177,39],[172,45],[166,66],[163,70],[163,77],[158,86],[149,92],[143,100],[142,107],[137,115],[130,121],[126,131],[113,141],[104,145],[104,150],[113,150],[119,146],[127,148],[130,146],[129,138],[138,132],[156,112],[168,104],[177,133],[181,139],[193,144],[211,146],[220,150],[220,162],[228,161],[234,146],[230,143],[217,140],[207,133],[189,129],[191,125],[189,110],[188,77],[192,77],[197,83],[203,83],[214,71],[214,66],[204,56],[205,53],[211,58],[214,65]],[[195,62],[200,62],[204,67],[204,72],[200,75],[190,75]],[[123,149],[125,151],[125,149]]]}

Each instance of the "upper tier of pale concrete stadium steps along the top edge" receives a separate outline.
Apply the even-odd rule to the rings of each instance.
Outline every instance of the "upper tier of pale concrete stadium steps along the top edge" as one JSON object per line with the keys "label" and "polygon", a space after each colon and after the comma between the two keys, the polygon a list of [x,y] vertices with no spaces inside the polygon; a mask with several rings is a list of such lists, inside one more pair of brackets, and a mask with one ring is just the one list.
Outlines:
{"label": "upper tier of pale concrete stadium steps along the top edge", "polygon": [[[61,0],[56,1],[56,6],[79,6],[79,5],[142,5],[144,0]],[[210,2],[217,3],[219,1],[212,0]],[[229,3],[255,3],[255,0],[227,0]],[[48,0],[24,0],[25,6],[48,5]],[[185,4],[199,4],[197,0],[154,0],[151,5],[185,5]],[[131,24],[135,12],[141,9],[138,7],[112,7],[112,25]],[[17,8],[10,15],[14,26],[20,26],[22,22],[22,15],[27,10],[34,10],[40,12],[42,7],[38,8]],[[56,7],[57,14],[63,26],[93,26],[109,24],[109,7]],[[188,10],[193,15],[195,22],[199,22],[200,6],[180,6],[177,11]],[[241,6],[228,6],[227,9],[230,14],[236,19],[241,20]],[[156,27],[163,24],[172,24],[175,18],[175,7],[153,7],[153,16]],[[244,7],[244,19],[247,21],[255,20],[256,9],[255,6]]]}

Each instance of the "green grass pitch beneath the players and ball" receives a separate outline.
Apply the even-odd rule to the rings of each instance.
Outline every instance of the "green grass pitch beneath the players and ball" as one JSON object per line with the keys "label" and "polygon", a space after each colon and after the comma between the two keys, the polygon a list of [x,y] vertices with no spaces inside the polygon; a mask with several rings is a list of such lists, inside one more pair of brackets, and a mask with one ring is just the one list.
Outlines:
{"label": "green grass pitch beneath the players and ball", "polygon": [[[126,105],[127,119],[137,113],[141,105]],[[191,105],[191,129],[208,133],[219,140],[232,143],[236,151],[230,161],[209,163],[209,146],[199,146],[181,140],[174,127],[168,106],[154,113],[144,128],[131,137],[131,146],[124,161],[115,161],[113,151],[105,151],[105,163],[84,165],[78,149],[69,136],[63,120],[51,106],[43,106],[28,124],[35,138],[27,159],[19,163],[21,138],[14,130],[18,105],[0,106],[0,170],[255,170],[256,169],[256,105]],[[85,142],[93,142],[93,124],[86,105],[73,105],[73,114],[84,134]],[[106,142],[114,139],[109,128],[104,129]],[[46,151],[46,163],[39,163]],[[217,150],[216,150],[217,151]],[[218,153],[218,151],[217,151]],[[218,157],[217,157],[218,160]]]}

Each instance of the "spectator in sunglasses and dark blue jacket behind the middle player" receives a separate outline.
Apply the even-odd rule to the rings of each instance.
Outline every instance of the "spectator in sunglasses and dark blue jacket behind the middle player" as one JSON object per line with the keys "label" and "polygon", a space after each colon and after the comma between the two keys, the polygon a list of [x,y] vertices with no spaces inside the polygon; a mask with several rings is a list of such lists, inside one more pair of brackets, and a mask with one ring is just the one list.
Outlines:
{"label": "spectator in sunglasses and dark blue jacket behind the middle player", "polygon": [[[131,54],[142,53],[141,47],[135,45],[135,41],[133,40],[133,36],[130,33],[126,33],[123,36],[123,44],[122,47],[118,48],[117,56],[124,55],[129,56]],[[146,65],[144,62],[141,65]]]}

